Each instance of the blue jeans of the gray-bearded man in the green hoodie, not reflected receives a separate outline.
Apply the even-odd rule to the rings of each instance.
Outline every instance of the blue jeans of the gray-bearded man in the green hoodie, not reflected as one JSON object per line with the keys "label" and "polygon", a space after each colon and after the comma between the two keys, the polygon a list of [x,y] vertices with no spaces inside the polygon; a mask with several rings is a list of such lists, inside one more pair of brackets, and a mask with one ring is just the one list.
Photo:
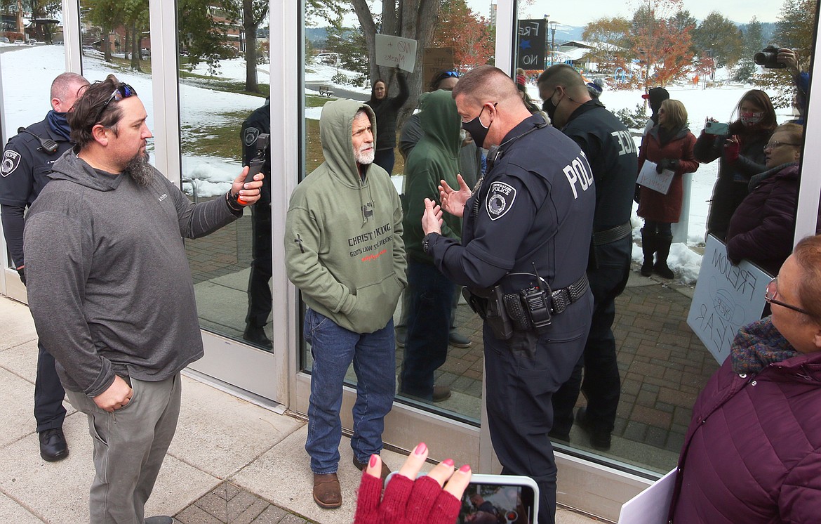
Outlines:
{"label": "blue jeans of the gray-bearded man in the green hoodie, not reflected", "polygon": [[397,369],[393,319],[374,333],[354,333],[308,309],[303,334],[314,357],[305,442],[311,471],[320,475],[337,471],[342,383],[351,362],[356,374],[351,448],[356,460],[367,463],[372,454],[382,451],[384,419],[393,407]]}

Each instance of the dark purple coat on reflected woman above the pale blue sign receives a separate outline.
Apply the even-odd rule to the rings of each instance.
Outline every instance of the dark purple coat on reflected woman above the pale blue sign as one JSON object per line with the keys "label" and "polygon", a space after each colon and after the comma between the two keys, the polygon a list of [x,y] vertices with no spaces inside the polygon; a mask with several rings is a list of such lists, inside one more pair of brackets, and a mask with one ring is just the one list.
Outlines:
{"label": "dark purple coat on reflected woman above the pale blue sign", "polygon": [[792,253],[798,184],[797,163],[753,177],[750,194],[736,208],[727,228],[727,256],[733,263],[746,259],[770,274],[778,273]]}

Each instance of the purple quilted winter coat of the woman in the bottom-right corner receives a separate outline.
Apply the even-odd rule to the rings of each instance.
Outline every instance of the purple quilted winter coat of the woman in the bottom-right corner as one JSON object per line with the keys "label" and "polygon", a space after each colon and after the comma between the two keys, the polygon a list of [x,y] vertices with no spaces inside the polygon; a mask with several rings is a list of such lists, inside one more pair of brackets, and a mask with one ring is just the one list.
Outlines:
{"label": "purple quilted winter coat of the woman in the bottom-right corner", "polygon": [[693,407],[670,522],[821,522],[821,352],[736,375],[732,358]]}

